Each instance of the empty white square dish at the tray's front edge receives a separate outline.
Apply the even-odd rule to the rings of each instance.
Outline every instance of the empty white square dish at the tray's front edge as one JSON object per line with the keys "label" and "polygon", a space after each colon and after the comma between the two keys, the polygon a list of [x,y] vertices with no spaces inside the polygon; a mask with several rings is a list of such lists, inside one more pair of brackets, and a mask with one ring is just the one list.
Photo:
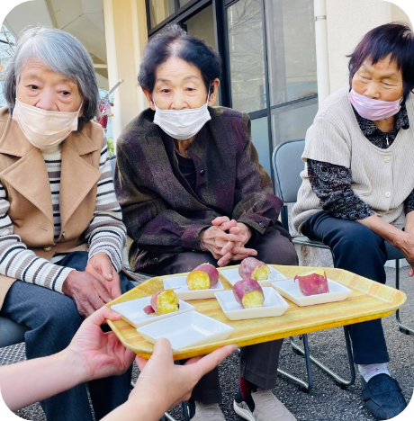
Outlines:
{"label": "empty white square dish at the tray's front edge", "polygon": [[224,341],[233,330],[233,327],[214,318],[204,316],[197,311],[190,311],[139,327],[137,332],[151,344],[155,344],[160,337],[166,337],[171,347],[177,350]]}

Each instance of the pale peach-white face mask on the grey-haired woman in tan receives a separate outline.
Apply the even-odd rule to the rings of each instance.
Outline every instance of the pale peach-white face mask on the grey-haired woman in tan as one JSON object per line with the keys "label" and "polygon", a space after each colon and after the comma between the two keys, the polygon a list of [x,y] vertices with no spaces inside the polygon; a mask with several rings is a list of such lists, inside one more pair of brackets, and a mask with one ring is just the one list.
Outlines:
{"label": "pale peach-white face mask on the grey-haired woman in tan", "polygon": [[77,130],[77,112],[53,112],[22,103],[16,98],[13,120],[19,123],[24,136],[35,148],[48,149],[57,146]]}

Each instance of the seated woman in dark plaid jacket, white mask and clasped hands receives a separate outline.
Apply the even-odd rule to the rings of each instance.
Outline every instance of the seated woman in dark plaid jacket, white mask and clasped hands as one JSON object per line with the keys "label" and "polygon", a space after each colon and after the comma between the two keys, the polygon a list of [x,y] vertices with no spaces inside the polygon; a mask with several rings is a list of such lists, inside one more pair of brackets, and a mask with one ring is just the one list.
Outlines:
{"label": "seated woman in dark plaid jacket, white mask and clasped hands", "polygon": [[[135,271],[183,273],[198,264],[297,264],[277,222],[282,202],[257,159],[247,114],[211,108],[220,57],[173,25],[148,42],[139,84],[149,108],[121,134],[115,189],[131,239]],[[288,421],[272,394],[282,341],[241,349],[236,412],[248,420]],[[193,390],[195,421],[224,420],[217,369]]]}

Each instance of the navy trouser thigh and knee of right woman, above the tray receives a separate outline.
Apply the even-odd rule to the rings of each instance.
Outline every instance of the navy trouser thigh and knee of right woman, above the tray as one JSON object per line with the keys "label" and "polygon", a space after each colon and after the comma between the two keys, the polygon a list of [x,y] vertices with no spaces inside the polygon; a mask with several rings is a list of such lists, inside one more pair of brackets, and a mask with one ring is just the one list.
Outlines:
{"label": "navy trouser thigh and knee of right woman, above the tray", "polygon": [[302,232],[330,247],[335,267],[385,283],[385,243],[370,228],[320,211],[307,219]]}

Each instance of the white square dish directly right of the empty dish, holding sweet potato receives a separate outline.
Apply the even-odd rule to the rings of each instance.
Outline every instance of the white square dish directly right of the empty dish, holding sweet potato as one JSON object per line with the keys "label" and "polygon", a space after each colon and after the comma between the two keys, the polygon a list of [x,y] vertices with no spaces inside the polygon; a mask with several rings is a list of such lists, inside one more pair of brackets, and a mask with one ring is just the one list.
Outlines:
{"label": "white square dish directly right of the empty dish, holding sweet potato", "polygon": [[234,298],[233,291],[216,292],[215,296],[221,309],[230,320],[244,320],[247,318],[272,318],[282,316],[289,309],[289,304],[271,287],[264,287],[265,302],[263,307],[243,309]]}

